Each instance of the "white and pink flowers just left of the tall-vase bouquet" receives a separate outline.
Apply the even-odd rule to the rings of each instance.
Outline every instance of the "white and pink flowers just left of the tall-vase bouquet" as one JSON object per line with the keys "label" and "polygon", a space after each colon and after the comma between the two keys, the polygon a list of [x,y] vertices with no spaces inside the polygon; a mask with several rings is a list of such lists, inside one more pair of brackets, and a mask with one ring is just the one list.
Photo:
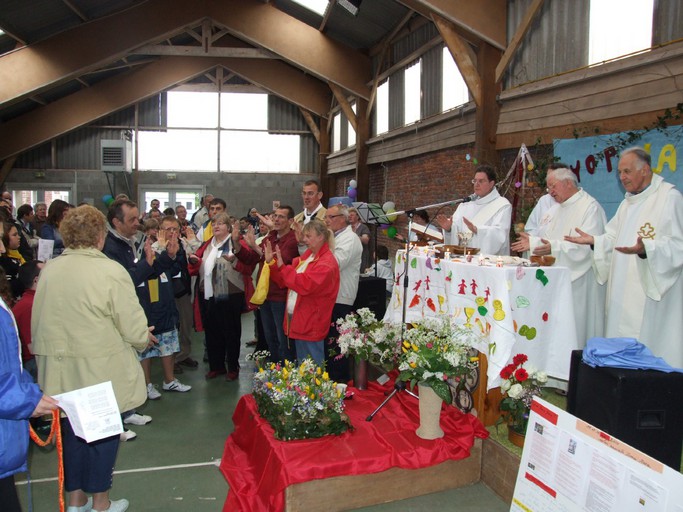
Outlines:
{"label": "white and pink flowers just left of the tall-vase bouquet", "polygon": [[341,355],[365,359],[377,366],[394,368],[401,354],[401,326],[382,322],[368,308],[337,320]]}

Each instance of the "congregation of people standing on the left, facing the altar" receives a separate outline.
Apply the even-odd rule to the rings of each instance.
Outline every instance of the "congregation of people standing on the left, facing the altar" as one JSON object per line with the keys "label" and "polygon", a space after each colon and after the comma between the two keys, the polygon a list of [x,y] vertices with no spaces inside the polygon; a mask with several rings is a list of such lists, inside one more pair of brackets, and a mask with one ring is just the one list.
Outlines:
{"label": "congregation of people standing on the left, facing the altar", "polygon": [[[136,437],[129,425],[151,422],[136,411],[145,400],[191,390],[176,375],[200,366],[193,330],[204,333],[207,380],[239,377],[241,315],[248,311],[256,313],[256,350],[272,361],[310,356],[348,380],[347,361],[335,358],[326,340],[336,334],[331,318],[351,311],[361,270],[372,272],[369,232],[354,209],[325,209],[316,181],[304,184],[302,198],[296,217],[279,206],[241,219],[210,194],[191,219],[183,206],[160,211],[158,200],[141,215],[125,196],[106,217],[55,200],[47,211],[22,205],[15,219],[11,195],[3,198],[2,359],[14,389],[3,393],[13,417],[0,420],[0,438],[3,445],[20,440],[0,468],[8,510],[20,510],[13,475],[26,470],[25,420],[55,410],[52,396],[103,381],[112,382],[124,432],[86,443],[62,413],[65,489],[70,512],[126,510],[127,500],[109,499],[118,443]],[[47,264],[38,259],[45,240],[52,242]],[[386,247],[378,252],[388,262]],[[250,300],[255,284],[267,288],[259,304]],[[161,386],[152,382],[154,359]]]}

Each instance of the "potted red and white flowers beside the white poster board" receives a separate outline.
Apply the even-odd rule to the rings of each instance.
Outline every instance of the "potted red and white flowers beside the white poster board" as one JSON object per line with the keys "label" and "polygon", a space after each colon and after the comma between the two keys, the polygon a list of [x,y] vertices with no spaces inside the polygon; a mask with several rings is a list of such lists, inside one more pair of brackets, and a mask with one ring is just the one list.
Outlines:
{"label": "potted red and white flowers beside the white poster board", "polygon": [[517,354],[512,358],[512,363],[500,371],[500,389],[507,396],[500,402],[503,416],[498,424],[506,422],[508,428],[522,435],[526,433],[529,423],[531,401],[534,396],[541,396],[541,386],[548,382],[545,372],[529,365],[524,367],[528,360],[526,354]]}

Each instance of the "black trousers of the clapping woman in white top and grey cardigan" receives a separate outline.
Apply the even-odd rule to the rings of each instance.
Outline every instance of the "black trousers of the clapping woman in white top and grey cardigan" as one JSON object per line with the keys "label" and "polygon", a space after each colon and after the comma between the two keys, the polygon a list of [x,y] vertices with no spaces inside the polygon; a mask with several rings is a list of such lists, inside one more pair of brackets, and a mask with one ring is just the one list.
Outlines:
{"label": "black trousers of the clapping woman in white top and grey cardigan", "polygon": [[239,372],[244,293],[233,293],[227,300],[200,301],[209,370],[223,371],[227,363],[229,372]]}

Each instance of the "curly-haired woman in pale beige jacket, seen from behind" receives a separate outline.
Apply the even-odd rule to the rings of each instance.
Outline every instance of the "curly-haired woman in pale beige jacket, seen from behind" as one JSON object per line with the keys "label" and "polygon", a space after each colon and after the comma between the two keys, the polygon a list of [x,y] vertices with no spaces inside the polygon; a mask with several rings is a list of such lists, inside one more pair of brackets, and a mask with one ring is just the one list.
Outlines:
{"label": "curly-haired woman in pale beige jacket, seen from behind", "polygon": [[[107,228],[97,209],[69,210],[59,229],[66,249],[43,269],[33,303],[38,383],[56,395],[111,381],[119,409],[134,409],[147,398],[136,350],[156,340],[133,283],[101,252]],[[62,432],[69,512],[126,510],[127,500],[109,500],[118,432],[86,443],[67,418]]]}

